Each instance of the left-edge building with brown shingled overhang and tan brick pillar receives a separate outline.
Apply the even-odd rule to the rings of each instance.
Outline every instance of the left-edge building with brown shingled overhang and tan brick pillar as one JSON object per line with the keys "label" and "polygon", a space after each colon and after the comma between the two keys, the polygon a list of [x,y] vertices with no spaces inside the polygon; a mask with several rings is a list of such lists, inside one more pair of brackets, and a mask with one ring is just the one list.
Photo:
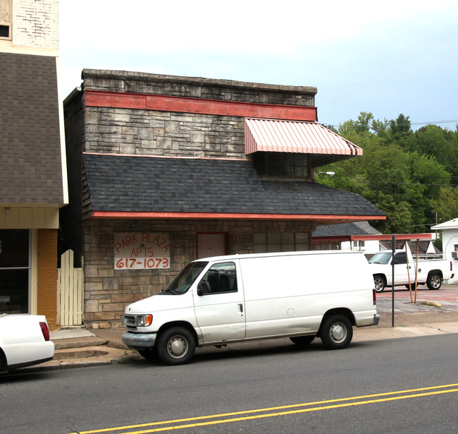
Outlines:
{"label": "left-edge building with brown shingled overhang and tan brick pillar", "polygon": [[68,203],[57,0],[0,0],[0,65],[0,312],[44,314],[56,328]]}

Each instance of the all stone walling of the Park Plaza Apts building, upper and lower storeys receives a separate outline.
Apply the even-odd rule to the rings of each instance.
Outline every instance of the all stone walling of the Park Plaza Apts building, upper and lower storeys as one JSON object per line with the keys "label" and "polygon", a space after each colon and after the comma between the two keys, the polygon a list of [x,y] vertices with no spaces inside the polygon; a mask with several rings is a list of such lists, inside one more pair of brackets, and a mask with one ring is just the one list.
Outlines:
{"label": "all stone walling of the Park Plaza Apts building, upper and lower storeys", "polygon": [[[314,222],[310,221],[92,219],[81,153],[247,159],[243,116],[96,107],[86,103],[86,92],[314,107],[316,88],[122,71],[84,70],[82,78],[82,92],[69,95],[64,102],[70,207],[64,210],[61,224],[70,229],[66,238],[73,243],[68,247],[77,253],[77,262],[78,253],[84,259],[87,327],[123,327],[125,306],[157,294],[197,257],[199,233],[227,234],[230,254],[253,253],[255,232],[311,234]],[[170,269],[115,270],[114,234],[130,231],[168,234]],[[78,239],[82,240],[80,248]]]}

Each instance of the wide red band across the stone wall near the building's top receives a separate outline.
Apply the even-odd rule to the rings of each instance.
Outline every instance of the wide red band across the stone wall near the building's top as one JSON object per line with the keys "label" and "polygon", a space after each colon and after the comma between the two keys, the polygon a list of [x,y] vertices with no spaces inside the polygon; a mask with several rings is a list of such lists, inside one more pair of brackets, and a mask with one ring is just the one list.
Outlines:
{"label": "wide red band across the stone wall near the building's top", "polygon": [[262,119],[316,122],[316,107],[280,104],[258,104],[199,98],[169,97],[124,92],[101,92],[86,90],[88,107],[114,107],[118,109],[140,109],[178,111],[182,113],[217,114]]}

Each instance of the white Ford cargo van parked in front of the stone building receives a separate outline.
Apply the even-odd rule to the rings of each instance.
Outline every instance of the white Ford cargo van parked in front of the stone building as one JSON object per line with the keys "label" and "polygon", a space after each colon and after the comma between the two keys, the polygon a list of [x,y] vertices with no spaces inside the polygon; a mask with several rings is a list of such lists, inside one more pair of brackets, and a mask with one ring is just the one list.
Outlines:
{"label": "white Ford cargo van parked in front of the stone building", "polygon": [[352,325],[377,325],[372,273],[363,253],[215,256],[186,265],[163,292],[125,308],[123,342],[145,358],[187,363],[196,346],[316,336],[329,349]]}

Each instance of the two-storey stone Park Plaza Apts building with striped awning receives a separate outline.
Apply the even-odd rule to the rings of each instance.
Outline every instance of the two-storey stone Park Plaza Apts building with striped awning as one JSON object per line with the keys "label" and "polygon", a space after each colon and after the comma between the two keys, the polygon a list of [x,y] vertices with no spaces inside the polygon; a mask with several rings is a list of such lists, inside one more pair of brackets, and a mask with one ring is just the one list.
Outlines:
{"label": "two-storey stone Park Plaza Apts building with striped awning", "polygon": [[[314,170],[362,150],[317,121],[316,88],[82,71],[64,102],[66,248],[84,258],[85,323],[120,327],[126,304],[187,262],[311,248],[320,224],[385,219]],[[79,264],[76,264],[79,265]]]}

